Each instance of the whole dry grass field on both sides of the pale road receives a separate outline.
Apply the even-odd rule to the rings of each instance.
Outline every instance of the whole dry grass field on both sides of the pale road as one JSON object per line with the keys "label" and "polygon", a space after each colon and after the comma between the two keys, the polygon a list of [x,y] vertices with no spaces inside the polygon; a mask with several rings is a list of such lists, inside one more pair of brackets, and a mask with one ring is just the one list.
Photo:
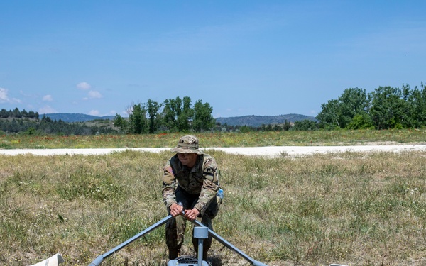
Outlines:
{"label": "whole dry grass field on both sides of the pale road", "polygon": [[[173,147],[180,135],[67,137],[67,145],[64,137],[3,136],[1,143],[3,148]],[[204,147],[426,143],[425,131],[198,136]],[[55,253],[65,265],[89,265],[160,221],[167,216],[160,169],[171,155],[0,155],[0,265],[29,265]],[[212,155],[225,193],[214,231],[255,260],[270,266],[425,265],[424,153]],[[102,265],[165,266],[164,242],[164,229],[158,228]],[[190,231],[183,253],[194,254]],[[214,266],[249,265],[215,240],[210,258]]]}

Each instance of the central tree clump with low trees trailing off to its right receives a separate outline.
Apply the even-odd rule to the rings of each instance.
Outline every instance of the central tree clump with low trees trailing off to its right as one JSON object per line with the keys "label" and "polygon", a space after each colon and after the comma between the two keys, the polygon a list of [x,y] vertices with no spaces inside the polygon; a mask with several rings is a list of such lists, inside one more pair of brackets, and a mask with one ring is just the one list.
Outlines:
{"label": "central tree clump with low trees trailing off to its right", "polygon": [[249,132],[249,131],[305,131],[318,129],[316,121],[309,119],[295,121],[294,124],[285,121],[278,125],[230,126],[216,123],[212,116],[212,106],[202,103],[202,100],[191,105],[189,96],[182,99],[166,99],[162,104],[148,99],[146,104],[133,104],[128,108],[129,118],[116,114],[114,124],[124,133],[144,134],[158,132]]}

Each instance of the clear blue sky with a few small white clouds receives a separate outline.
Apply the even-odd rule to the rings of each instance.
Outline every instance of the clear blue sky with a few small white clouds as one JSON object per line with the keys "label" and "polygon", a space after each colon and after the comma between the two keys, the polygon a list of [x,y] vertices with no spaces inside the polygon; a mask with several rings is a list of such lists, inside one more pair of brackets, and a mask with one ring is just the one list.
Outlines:
{"label": "clear blue sky with a few small white clouds", "polygon": [[214,117],[317,116],[426,82],[426,1],[1,1],[0,106],[108,116],[189,96]]}

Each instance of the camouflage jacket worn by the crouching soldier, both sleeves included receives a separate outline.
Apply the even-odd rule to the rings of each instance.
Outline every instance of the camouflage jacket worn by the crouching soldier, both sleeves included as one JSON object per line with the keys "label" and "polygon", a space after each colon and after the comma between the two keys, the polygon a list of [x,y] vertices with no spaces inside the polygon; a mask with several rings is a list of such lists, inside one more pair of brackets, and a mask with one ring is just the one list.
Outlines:
{"label": "camouflage jacket worn by the crouching soldier, both sleeves included", "polygon": [[204,214],[219,189],[219,171],[214,158],[207,154],[198,155],[197,162],[190,169],[175,155],[165,164],[163,172],[165,206],[176,203],[175,188],[179,186],[190,194],[200,194],[195,208]]}

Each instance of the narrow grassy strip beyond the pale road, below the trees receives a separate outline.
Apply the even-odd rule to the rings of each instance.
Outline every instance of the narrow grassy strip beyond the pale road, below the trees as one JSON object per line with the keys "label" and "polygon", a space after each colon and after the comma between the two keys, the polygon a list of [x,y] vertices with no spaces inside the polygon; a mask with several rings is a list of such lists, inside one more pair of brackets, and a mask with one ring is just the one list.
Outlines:
{"label": "narrow grassy strip beyond the pale road, below the trees", "polygon": [[[155,135],[0,135],[0,149],[170,148],[182,133]],[[426,129],[195,133],[202,147],[426,144]]]}

